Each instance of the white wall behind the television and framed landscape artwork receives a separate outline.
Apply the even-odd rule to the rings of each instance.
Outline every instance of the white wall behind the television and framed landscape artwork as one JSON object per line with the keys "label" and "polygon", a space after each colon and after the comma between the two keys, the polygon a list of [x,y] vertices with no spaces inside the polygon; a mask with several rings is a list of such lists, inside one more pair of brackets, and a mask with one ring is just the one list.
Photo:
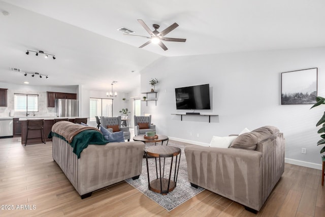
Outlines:
{"label": "white wall behind the television and framed landscape artwork", "polygon": [[[166,57],[141,72],[141,92],[156,77],[157,106],[142,102],[142,113],[151,113],[157,133],[178,140],[207,145],[213,135],[239,133],[245,127],[276,126],[286,139],[285,157],[320,164],[316,122],[324,107],[281,105],[281,72],[318,68],[318,96],[325,96],[325,48]],[[175,88],[210,84],[212,109],[207,117],[171,115],[176,110]],[[301,148],[307,154],[301,154]]]}

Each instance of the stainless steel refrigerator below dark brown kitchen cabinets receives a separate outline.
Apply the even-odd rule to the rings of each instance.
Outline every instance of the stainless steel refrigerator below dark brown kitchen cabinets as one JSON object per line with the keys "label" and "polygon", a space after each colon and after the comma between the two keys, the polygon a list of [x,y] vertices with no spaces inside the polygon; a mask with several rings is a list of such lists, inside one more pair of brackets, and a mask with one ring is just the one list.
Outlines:
{"label": "stainless steel refrigerator below dark brown kitchen cabinets", "polygon": [[78,100],[56,99],[55,109],[58,117],[78,117]]}

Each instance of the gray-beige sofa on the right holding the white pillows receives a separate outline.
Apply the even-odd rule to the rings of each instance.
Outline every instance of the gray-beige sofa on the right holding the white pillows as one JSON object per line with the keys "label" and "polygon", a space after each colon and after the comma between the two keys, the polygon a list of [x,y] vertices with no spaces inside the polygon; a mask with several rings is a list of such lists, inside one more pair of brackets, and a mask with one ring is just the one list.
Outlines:
{"label": "gray-beige sofa on the right holding the white pillows", "polygon": [[188,180],[259,211],[284,172],[284,138],[265,126],[239,135],[230,148],[185,147]]}

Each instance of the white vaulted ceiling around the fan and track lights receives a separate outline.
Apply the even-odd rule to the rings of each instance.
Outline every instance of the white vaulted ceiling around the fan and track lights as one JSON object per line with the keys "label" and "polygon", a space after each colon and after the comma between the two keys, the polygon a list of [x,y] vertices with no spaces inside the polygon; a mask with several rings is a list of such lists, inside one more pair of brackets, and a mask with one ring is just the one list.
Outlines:
{"label": "white vaulted ceiling around the fan and track lights", "polygon": [[[0,82],[84,85],[128,92],[140,72],[160,57],[325,46],[324,0],[3,0],[0,11]],[[124,36],[124,26],[148,36],[137,19],[159,31],[177,22],[166,37],[169,50],[147,39]],[[55,60],[26,50],[55,54]],[[10,67],[49,75],[36,79]],[[134,71],[134,72],[132,72]]]}

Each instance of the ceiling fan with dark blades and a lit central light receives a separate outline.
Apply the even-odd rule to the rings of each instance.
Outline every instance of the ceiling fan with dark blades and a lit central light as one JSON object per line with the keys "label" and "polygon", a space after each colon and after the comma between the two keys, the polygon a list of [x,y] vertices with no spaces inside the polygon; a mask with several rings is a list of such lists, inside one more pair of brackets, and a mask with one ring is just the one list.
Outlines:
{"label": "ceiling fan with dark blades and a lit central light", "polygon": [[[157,31],[157,29],[159,28],[158,24],[153,24],[152,26],[153,26],[154,30],[151,31],[150,28],[143,22],[143,20],[138,20],[138,21],[146,29],[146,31],[150,35],[150,37],[148,37],[148,36],[139,36],[139,37],[150,39],[149,41],[147,41],[146,43],[141,45],[139,48],[143,48],[144,46],[146,46],[146,45],[148,45],[150,43],[153,43],[153,44],[158,44],[164,50],[168,50],[168,48],[163,43],[164,41],[166,41],[166,42],[185,42],[186,41],[186,39],[177,39],[177,38],[164,37],[165,35],[170,33],[173,29],[175,29],[178,26],[178,24],[176,22],[159,33]],[[128,34],[124,34],[124,35],[128,35]],[[128,35],[128,36],[137,36],[137,35]]]}

